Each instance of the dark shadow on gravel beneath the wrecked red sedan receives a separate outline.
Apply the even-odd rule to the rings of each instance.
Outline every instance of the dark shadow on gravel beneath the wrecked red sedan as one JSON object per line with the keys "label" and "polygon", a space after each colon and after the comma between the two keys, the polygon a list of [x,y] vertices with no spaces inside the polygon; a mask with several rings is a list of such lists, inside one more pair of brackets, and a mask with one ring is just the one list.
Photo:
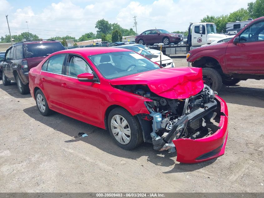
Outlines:
{"label": "dark shadow on gravel beneath the wrecked red sedan", "polygon": [[[42,124],[68,135],[69,140],[66,140],[66,143],[74,144],[77,141],[83,141],[111,155],[132,160],[137,160],[142,156],[147,156],[147,161],[157,166],[169,167],[175,164],[175,156],[177,155],[176,152],[169,153],[168,151],[156,151],[153,150],[153,145],[148,143],[143,143],[134,150],[123,150],[114,143],[107,130],[100,129],[56,112],[50,116],[44,117],[39,113],[36,106],[29,107],[23,111],[31,118],[41,122]],[[79,132],[86,133],[88,137],[78,137]],[[184,164],[176,164],[171,171],[194,171],[203,168],[204,166],[206,165],[186,166]],[[186,170],[185,167],[187,168]]]}

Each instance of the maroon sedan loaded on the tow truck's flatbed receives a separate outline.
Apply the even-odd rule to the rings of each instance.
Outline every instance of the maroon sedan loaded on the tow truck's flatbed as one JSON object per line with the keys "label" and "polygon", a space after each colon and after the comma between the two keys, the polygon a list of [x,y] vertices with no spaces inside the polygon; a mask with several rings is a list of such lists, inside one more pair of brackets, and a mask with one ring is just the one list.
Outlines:
{"label": "maroon sedan loaded on the tow truck's flatbed", "polygon": [[135,37],[135,42],[141,45],[153,45],[154,43],[163,43],[164,45],[168,45],[170,43],[177,44],[182,40],[183,37],[181,34],[170,33],[163,29],[147,30]]}

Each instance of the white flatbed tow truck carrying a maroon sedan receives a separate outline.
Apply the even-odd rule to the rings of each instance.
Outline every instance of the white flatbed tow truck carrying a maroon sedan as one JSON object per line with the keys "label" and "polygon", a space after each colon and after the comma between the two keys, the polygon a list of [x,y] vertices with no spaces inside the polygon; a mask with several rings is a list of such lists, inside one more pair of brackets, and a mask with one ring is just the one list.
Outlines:
{"label": "white flatbed tow truck carrying a maroon sedan", "polygon": [[214,23],[191,23],[188,28],[187,41],[178,44],[157,44],[148,45],[151,49],[162,50],[163,54],[187,54],[191,49],[210,44],[219,38],[227,37],[225,34],[216,33]]}

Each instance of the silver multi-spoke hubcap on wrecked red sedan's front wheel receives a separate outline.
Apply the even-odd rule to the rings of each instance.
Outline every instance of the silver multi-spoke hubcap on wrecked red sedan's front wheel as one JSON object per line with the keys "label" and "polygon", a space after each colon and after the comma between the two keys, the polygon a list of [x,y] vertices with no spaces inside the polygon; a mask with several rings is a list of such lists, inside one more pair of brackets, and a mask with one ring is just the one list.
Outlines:
{"label": "silver multi-spoke hubcap on wrecked red sedan's front wheel", "polygon": [[126,145],[131,140],[131,129],[127,120],[122,115],[114,115],[111,119],[111,130],[116,140]]}

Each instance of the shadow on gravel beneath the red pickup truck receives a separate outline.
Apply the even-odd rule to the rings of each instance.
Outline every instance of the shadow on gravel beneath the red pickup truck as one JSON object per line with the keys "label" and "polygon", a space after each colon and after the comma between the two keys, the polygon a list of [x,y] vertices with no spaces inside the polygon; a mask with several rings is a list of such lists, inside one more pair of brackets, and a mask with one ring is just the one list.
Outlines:
{"label": "shadow on gravel beneath the red pickup truck", "polygon": [[264,89],[223,85],[218,95],[227,103],[264,108]]}

